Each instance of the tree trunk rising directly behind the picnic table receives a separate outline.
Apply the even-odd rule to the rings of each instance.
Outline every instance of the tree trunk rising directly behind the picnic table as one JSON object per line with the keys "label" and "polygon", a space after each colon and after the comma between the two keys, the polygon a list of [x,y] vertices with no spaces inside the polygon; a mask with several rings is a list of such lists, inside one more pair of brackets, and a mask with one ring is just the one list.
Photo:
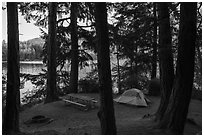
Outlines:
{"label": "tree trunk rising directly behind the picnic table", "polygon": [[78,37],[77,37],[77,3],[71,3],[71,75],[70,92],[78,92]]}

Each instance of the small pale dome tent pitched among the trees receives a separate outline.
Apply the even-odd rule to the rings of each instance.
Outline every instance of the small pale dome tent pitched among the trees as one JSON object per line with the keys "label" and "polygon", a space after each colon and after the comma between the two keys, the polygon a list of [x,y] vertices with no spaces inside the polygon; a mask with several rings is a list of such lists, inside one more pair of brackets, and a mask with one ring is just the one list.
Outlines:
{"label": "small pale dome tent pitched among the trees", "polygon": [[139,89],[132,88],[126,90],[120,97],[114,99],[115,102],[125,103],[135,106],[147,107],[150,101],[145,97],[143,92]]}

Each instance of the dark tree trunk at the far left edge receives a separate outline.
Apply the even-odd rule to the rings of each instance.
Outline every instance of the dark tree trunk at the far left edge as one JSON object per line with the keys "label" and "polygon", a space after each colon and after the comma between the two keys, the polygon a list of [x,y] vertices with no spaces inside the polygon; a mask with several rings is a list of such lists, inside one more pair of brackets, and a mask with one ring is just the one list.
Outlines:
{"label": "dark tree trunk at the far left edge", "polygon": [[3,134],[19,132],[20,78],[19,78],[19,31],[16,2],[7,3],[8,54],[6,112],[3,119]]}

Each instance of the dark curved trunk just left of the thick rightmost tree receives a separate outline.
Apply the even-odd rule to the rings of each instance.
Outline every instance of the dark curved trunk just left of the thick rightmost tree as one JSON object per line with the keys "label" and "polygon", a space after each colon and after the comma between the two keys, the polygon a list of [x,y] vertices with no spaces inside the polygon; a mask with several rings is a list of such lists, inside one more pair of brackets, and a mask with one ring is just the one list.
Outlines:
{"label": "dark curved trunk just left of the thick rightmost tree", "polygon": [[159,63],[161,101],[156,113],[156,120],[161,120],[169,103],[174,81],[172,39],[169,21],[168,3],[157,3],[159,15]]}

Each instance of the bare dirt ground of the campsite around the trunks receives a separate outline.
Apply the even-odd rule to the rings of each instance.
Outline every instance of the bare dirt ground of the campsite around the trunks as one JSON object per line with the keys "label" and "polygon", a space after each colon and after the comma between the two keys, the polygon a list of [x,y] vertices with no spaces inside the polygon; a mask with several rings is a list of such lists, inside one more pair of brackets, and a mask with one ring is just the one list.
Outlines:
{"label": "bare dirt ground of the campsite around the trunks", "polygon": [[[98,94],[83,94],[98,100]],[[114,97],[115,98],[115,97]],[[151,118],[144,115],[154,114],[160,103],[159,97],[148,97],[151,104],[148,107],[135,107],[114,102],[117,134],[119,135],[158,135],[169,134],[156,129]],[[99,104],[97,104],[99,106]],[[97,117],[98,108],[81,111],[73,106],[67,106],[63,101],[48,104],[38,104],[20,113],[20,129],[25,134],[44,135],[100,135],[100,121]],[[24,124],[36,115],[52,118],[48,124]],[[184,134],[193,135],[202,130],[202,102],[191,100],[188,120]]]}

